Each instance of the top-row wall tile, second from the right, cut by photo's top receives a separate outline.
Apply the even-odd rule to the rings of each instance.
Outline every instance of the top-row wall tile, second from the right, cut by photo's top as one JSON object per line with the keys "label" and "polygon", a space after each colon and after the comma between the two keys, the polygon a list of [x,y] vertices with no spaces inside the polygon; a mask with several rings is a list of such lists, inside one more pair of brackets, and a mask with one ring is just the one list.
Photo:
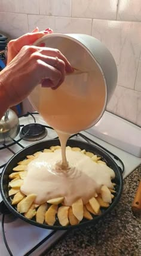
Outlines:
{"label": "top-row wall tile, second from the right, cut by photo's top", "polygon": [[116,19],[118,0],[72,0],[72,17]]}

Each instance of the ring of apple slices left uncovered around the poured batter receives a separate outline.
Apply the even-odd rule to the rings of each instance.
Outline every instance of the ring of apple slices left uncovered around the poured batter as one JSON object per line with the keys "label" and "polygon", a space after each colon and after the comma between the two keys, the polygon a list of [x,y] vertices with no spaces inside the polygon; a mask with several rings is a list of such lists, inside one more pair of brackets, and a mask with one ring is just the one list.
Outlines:
{"label": "ring of apple slices left uncovered around the poured batter", "polygon": [[[50,149],[44,149],[43,152],[54,152],[60,149],[60,146],[52,146]],[[94,155],[91,152],[81,150],[76,147],[66,147],[66,150],[80,151],[82,154],[87,155],[91,160],[96,161],[99,164],[106,164],[105,161],[101,160],[101,157]],[[93,220],[94,216],[101,215],[101,208],[108,208],[114,199],[115,190],[103,185],[100,193],[95,194],[86,205],[83,205],[82,199],[76,200],[72,206],[65,206],[63,204],[64,197],[58,197],[50,199],[42,205],[36,205],[34,203],[36,194],[30,194],[25,196],[21,191],[20,187],[23,184],[23,180],[27,175],[26,166],[33,159],[38,157],[40,151],[33,155],[26,156],[26,159],[20,161],[10,175],[10,182],[8,194],[11,198],[11,205],[16,206],[17,212],[23,214],[28,219],[34,218],[37,223],[54,225],[59,220],[60,225],[77,225],[84,218],[87,220]],[[115,183],[112,183],[115,187]]]}

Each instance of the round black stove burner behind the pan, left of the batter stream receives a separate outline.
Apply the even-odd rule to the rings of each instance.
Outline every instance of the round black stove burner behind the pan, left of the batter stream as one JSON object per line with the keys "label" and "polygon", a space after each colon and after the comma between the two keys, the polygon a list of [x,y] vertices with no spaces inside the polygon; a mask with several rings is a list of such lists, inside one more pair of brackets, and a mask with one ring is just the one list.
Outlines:
{"label": "round black stove burner behind the pan, left of the batter stream", "polygon": [[25,141],[39,141],[47,136],[47,129],[41,124],[33,123],[24,126],[20,132],[20,138]]}

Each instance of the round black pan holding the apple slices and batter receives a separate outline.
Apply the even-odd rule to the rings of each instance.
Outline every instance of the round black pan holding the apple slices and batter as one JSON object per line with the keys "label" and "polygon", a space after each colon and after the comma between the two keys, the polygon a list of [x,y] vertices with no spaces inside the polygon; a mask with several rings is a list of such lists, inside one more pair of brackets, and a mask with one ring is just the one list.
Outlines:
{"label": "round black pan holding the apple slices and batter", "polygon": [[51,146],[60,145],[60,142],[58,139],[52,139],[50,141],[42,141],[38,142],[36,144],[30,145],[27,148],[24,148],[19,153],[17,153],[14,157],[8,161],[7,165],[4,167],[4,170],[1,175],[1,194],[2,199],[4,200],[5,205],[8,209],[10,209],[11,212],[13,212],[14,215],[21,218],[22,220],[26,221],[27,223],[30,223],[32,225],[36,225],[41,228],[48,228],[52,230],[66,230],[66,229],[72,229],[72,228],[78,228],[82,227],[88,224],[94,224],[97,223],[97,221],[101,220],[103,217],[105,217],[106,214],[112,211],[112,209],[115,208],[117,205],[119,198],[121,197],[122,193],[122,187],[123,187],[123,178],[121,170],[119,169],[118,165],[115,163],[115,161],[107,154],[105,151],[101,150],[100,148],[96,147],[95,145],[91,145],[85,142],[76,141],[73,139],[69,139],[67,142],[67,145],[70,147],[79,147],[82,150],[90,151],[97,156],[102,157],[102,160],[108,164],[109,167],[111,167],[115,172],[115,179],[113,182],[115,182],[117,185],[115,187],[116,194],[114,197],[113,202],[109,206],[109,208],[101,208],[102,214],[99,216],[93,216],[93,220],[82,220],[81,223],[78,225],[68,225],[66,227],[62,227],[59,224],[59,221],[56,219],[55,225],[47,225],[47,224],[39,224],[36,223],[35,220],[29,220],[26,217],[24,217],[22,214],[19,214],[19,212],[16,211],[16,208],[14,206],[11,206],[11,199],[8,196],[8,182],[10,179],[8,178],[8,175],[10,175],[11,172],[13,172],[13,168],[17,165],[19,161],[22,161],[26,158],[27,155],[34,154],[37,151],[42,151],[44,148],[50,148]]}

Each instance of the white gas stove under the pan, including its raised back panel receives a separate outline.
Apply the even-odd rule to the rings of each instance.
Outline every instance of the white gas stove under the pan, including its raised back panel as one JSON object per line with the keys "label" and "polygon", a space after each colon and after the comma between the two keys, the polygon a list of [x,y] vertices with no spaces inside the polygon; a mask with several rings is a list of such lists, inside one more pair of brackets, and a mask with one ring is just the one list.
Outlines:
{"label": "white gas stove under the pan, including its raised back panel", "polygon": [[[0,173],[7,161],[22,148],[36,141],[57,138],[57,133],[37,112],[27,113],[19,121],[19,135],[9,144],[0,145]],[[124,171],[124,178],[141,163],[141,128],[109,112],[105,112],[96,126],[71,137],[105,150]],[[1,194],[0,202],[2,205]],[[66,233],[35,227],[12,214],[0,215],[0,222],[1,233],[5,233],[5,241],[0,237],[2,256],[38,256],[50,249]],[[8,252],[5,243],[11,252]]]}

